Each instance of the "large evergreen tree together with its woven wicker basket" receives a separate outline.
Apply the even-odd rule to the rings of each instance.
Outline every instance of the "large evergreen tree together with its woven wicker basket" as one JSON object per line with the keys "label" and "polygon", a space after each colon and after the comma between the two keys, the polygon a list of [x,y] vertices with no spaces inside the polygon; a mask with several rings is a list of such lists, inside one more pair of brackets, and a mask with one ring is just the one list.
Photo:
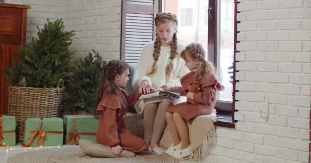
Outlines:
{"label": "large evergreen tree together with its woven wicker basket", "polygon": [[69,49],[74,31],[66,32],[62,19],[46,23],[17,51],[20,60],[4,68],[8,79],[8,114],[16,116],[17,139],[24,140],[24,120],[32,117],[59,117],[62,82],[70,71]]}

